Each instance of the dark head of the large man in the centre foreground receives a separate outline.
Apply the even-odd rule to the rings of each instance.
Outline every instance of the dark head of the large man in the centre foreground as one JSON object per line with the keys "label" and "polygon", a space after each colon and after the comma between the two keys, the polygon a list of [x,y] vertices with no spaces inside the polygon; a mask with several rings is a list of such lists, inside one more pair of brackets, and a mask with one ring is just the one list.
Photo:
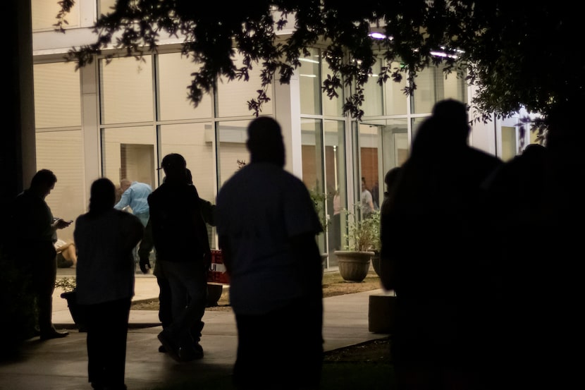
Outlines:
{"label": "dark head of the large man in the centre foreground", "polygon": [[246,146],[250,151],[250,162],[269,162],[284,166],[285,151],[281,125],[269,116],[260,116],[247,128]]}

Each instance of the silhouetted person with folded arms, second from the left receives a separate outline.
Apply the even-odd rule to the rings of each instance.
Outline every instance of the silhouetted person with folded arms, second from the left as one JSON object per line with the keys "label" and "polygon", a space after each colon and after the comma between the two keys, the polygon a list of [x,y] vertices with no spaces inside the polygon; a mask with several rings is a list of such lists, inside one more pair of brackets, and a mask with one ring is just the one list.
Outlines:
{"label": "silhouetted person with folded arms, second from the left", "polygon": [[75,221],[77,303],[87,330],[87,374],[93,389],[126,389],[126,339],[134,295],[133,248],[144,227],[135,215],[113,208],[116,186],[99,178],[90,207]]}

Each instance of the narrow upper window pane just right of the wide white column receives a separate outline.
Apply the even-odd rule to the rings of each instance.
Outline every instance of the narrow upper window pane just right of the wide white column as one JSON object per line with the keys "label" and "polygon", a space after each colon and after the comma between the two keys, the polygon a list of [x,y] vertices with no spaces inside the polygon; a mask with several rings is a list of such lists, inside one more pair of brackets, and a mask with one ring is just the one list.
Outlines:
{"label": "narrow upper window pane just right of the wide white column", "polygon": [[[319,64],[319,50],[309,49],[311,56],[301,57],[299,73],[301,113],[309,115],[321,114],[321,77]],[[327,76],[324,75],[324,78]],[[328,98],[326,98],[328,100]],[[329,104],[333,104],[330,102]],[[331,107],[329,107],[331,109]],[[333,109],[335,111],[335,109]]]}

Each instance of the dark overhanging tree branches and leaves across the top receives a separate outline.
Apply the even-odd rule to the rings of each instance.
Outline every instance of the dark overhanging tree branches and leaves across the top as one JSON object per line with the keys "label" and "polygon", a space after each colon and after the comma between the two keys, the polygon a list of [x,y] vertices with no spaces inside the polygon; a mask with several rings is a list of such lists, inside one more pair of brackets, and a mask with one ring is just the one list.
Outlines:
{"label": "dark overhanging tree branches and leaves across the top", "polygon": [[[75,0],[59,4],[56,29],[64,32]],[[466,70],[476,86],[476,121],[524,107],[540,114],[537,124],[555,128],[585,100],[584,65],[569,46],[580,36],[578,14],[557,3],[524,0],[258,0],[205,7],[189,0],[119,0],[95,23],[95,41],[71,49],[68,59],[85,66],[94,54],[119,55],[111,49],[140,59],[144,51],[156,51],[161,37],[181,37],[183,54],[197,63],[192,102],[197,105],[218,77],[247,80],[261,66],[263,88],[248,102],[258,115],[269,99],[266,87],[274,80],[288,83],[307,47],[319,43],[331,68],[322,89],[335,98],[344,84],[352,86],[344,110],[355,118],[364,115],[362,86],[381,56],[378,80],[407,78],[405,94],[416,93],[421,69],[443,63],[446,73]],[[388,38],[371,39],[374,30]],[[236,52],[243,66],[233,62]],[[391,66],[394,61],[401,65]],[[577,65],[567,69],[572,63]]]}

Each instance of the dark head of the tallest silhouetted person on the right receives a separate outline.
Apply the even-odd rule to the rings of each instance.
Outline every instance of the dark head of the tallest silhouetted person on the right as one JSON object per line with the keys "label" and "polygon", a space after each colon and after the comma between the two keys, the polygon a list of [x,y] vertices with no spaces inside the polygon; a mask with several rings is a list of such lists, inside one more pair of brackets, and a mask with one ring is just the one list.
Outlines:
{"label": "dark head of the tallest silhouetted person on the right", "polygon": [[433,106],[433,118],[444,130],[442,136],[454,142],[466,142],[469,136],[467,106],[455,99],[445,99]]}

